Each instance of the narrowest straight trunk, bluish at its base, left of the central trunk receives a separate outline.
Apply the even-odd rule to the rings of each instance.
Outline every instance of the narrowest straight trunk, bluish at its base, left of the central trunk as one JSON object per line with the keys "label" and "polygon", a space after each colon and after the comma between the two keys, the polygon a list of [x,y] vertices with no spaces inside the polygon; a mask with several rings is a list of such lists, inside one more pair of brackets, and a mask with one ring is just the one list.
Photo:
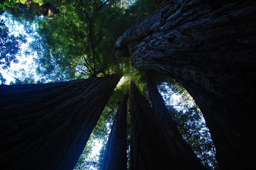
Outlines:
{"label": "narrowest straight trunk, bluish at its base, left of the central trunk", "polygon": [[102,170],[125,170],[127,169],[127,143],[126,143],[126,121],[127,121],[128,90],[124,95],[113,122],[108,137]]}

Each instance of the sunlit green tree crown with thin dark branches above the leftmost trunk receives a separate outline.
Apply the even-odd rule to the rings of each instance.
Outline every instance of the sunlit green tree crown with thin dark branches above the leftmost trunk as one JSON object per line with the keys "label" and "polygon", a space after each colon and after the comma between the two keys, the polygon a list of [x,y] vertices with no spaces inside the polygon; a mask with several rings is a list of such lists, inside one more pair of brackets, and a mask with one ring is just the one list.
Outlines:
{"label": "sunlit green tree crown with thin dark branches above the leftmost trunk", "polygon": [[[122,72],[121,64],[113,63],[111,58],[112,46],[125,29],[120,27],[122,30],[116,34],[114,19],[122,16],[121,8],[110,2],[84,0],[66,1],[60,11],[51,20],[36,20],[39,38],[36,35],[31,49],[38,53],[37,62],[42,64],[38,73],[43,70],[45,58],[48,64],[55,65],[54,69],[58,67],[67,74],[76,72],[71,79]],[[41,48],[35,45],[39,39]],[[45,47],[48,50],[38,50]]]}

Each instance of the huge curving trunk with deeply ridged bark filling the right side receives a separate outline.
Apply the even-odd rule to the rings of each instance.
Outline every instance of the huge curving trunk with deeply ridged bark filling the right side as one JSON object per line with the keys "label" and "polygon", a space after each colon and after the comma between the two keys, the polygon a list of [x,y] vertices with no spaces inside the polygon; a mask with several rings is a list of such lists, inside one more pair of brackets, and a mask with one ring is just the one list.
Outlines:
{"label": "huge curving trunk with deeply ridged bark filling the right side", "polygon": [[172,0],[116,42],[121,51],[139,41],[132,65],[164,73],[188,90],[223,169],[254,166],[255,9],[252,0]]}

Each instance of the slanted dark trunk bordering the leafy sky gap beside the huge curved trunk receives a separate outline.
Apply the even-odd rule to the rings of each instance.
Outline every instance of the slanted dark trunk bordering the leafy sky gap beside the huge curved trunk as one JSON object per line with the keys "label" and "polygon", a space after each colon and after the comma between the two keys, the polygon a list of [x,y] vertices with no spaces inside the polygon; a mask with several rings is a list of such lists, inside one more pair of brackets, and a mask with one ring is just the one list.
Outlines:
{"label": "slanted dark trunk bordering the leafy sky gap beside the huge curved trunk", "polygon": [[[159,131],[164,135],[161,135],[163,141],[163,152],[170,158],[171,169],[204,169],[203,164],[197,158],[196,154],[188,143],[183,139],[177,125],[170,113],[168,112],[164,99],[160,95],[155,83],[151,80],[148,73],[144,72],[148,94],[151,100],[152,109],[154,111],[154,120],[159,125]],[[160,140],[160,139],[159,139]],[[186,165],[180,166],[180,162],[186,162]],[[193,165],[193,166],[191,166]]]}

